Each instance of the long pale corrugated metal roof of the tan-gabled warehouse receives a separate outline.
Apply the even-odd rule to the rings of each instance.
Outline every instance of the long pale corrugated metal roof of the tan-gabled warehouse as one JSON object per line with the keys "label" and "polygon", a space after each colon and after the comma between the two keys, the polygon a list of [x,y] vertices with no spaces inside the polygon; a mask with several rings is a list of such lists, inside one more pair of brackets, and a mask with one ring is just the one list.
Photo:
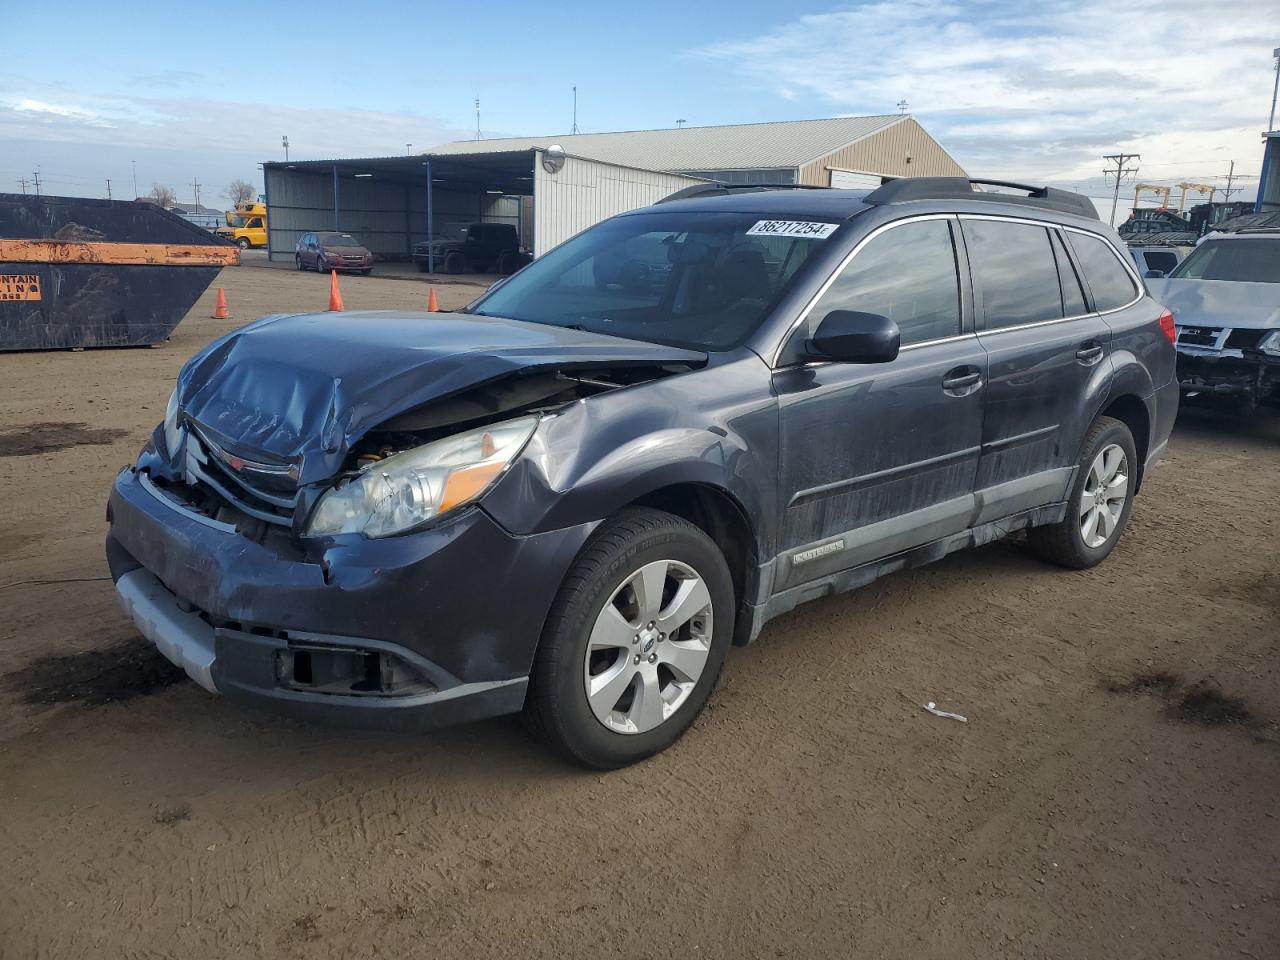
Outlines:
{"label": "long pale corrugated metal roof of the tan-gabled warehouse", "polygon": [[836,116],[828,120],[780,120],[730,127],[458,140],[428,152],[443,156],[489,154],[559,143],[573,156],[645,170],[787,169],[879,133],[904,119],[906,118],[900,114]]}

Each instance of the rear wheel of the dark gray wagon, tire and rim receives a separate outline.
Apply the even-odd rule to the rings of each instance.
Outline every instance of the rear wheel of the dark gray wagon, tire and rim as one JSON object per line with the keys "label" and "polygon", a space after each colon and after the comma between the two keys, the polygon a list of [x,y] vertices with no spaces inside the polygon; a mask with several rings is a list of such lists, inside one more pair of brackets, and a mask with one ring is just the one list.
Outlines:
{"label": "rear wheel of the dark gray wagon, tire and rim", "polygon": [[1066,516],[1059,524],[1029,530],[1032,550],[1070,570],[1097,566],[1124,534],[1137,481],[1133,434],[1119,420],[1098,417],[1084,438]]}

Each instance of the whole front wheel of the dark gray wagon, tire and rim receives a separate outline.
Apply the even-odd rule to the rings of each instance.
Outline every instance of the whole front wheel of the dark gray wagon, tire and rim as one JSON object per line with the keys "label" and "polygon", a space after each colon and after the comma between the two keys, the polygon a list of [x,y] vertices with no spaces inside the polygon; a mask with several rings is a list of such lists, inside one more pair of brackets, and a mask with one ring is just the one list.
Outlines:
{"label": "whole front wheel of the dark gray wagon, tire and rim", "polygon": [[671,746],[712,695],[733,635],[728,564],[692,524],[626,509],[582,548],[552,605],[525,719],[596,769]]}

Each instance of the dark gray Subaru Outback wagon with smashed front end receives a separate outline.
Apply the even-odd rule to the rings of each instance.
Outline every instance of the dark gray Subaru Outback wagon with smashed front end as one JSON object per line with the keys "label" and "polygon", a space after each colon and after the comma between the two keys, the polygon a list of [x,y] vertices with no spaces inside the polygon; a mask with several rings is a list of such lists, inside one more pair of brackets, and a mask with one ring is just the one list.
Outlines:
{"label": "dark gray Subaru Outback wagon with smashed front end", "polygon": [[115,479],[111,575],[228,698],[524,710],[620,767],[799,603],[1024,527],[1098,563],[1167,443],[1172,334],[1070,193],[694,187],[456,314],[211,343]]}

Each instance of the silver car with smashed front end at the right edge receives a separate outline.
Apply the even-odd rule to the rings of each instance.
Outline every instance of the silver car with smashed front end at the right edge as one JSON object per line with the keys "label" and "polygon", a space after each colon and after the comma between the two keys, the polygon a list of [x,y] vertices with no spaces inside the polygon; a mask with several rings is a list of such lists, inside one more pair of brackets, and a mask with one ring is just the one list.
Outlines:
{"label": "silver car with smashed front end at the right edge", "polygon": [[1280,407],[1280,229],[1207,237],[1147,287],[1174,314],[1184,399]]}

